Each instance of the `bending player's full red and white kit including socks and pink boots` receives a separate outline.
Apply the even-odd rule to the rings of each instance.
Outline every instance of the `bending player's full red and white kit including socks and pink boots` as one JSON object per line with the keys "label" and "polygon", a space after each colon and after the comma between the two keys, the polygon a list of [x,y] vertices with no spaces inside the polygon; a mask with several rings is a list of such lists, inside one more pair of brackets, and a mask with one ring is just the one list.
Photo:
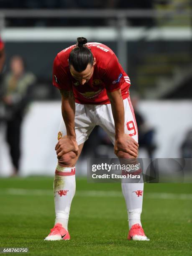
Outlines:
{"label": "bending player's full red and white kit including socks and pink boots", "polygon": [[[91,79],[81,85],[69,70],[69,54],[76,45],[59,52],[54,60],[53,84],[61,90],[73,90],[75,97],[75,133],[78,145],[84,143],[95,125],[101,126],[115,143],[115,124],[108,92],[121,89],[125,110],[125,133],[138,141],[136,119],[129,97],[130,79],[113,51],[100,43],[87,43],[96,59]],[[58,139],[67,135],[62,118]],[[141,227],[143,183],[122,183],[128,211],[130,232],[128,239],[147,240]],[[69,211],[75,194],[75,166],[56,166],[54,179],[55,226],[45,240],[70,239],[67,229]]]}

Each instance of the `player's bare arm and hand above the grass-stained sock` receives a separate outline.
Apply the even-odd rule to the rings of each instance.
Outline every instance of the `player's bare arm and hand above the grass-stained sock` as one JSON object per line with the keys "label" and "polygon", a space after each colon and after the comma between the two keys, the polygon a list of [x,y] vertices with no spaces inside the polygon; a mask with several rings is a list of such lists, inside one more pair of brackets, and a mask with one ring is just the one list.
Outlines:
{"label": "player's bare arm and hand above the grass-stained sock", "polygon": [[73,91],[60,90],[61,92],[61,112],[67,130],[67,136],[62,137],[55,146],[57,158],[63,154],[74,151],[78,155],[78,145],[75,134],[75,103]]}

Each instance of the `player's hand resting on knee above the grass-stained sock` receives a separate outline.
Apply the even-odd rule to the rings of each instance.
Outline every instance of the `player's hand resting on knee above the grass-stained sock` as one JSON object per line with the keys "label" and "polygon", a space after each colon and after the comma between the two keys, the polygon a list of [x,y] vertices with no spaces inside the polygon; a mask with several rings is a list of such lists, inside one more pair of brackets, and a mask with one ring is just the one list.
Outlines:
{"label": "player's hand resting on knee above the grass-stained sock", "polygon": [[60,159],[64,154],[73,151],[77,156],[79,154],[79,147],[74,137],[64,136],[55,146],[57,158]]}

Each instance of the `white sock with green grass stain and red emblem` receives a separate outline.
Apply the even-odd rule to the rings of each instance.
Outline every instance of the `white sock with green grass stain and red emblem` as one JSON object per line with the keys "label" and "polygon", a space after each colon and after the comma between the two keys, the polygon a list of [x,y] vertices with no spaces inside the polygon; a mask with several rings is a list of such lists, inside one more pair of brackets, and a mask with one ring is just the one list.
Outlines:
{"label": "white sock with green grass stain and red emblem", "polygon": [[57,164],[54,178],[55,224],[61,223],[66,230],[75,187],[75,167]]}

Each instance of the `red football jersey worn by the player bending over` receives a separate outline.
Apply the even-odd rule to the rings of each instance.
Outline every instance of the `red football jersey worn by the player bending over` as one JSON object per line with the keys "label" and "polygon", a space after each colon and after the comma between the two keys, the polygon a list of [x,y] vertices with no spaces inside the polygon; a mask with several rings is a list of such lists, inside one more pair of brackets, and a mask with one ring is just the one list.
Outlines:
{"label": "red football jersey worn by the player bending over", "polygon": [[81,104],[108,104],[107,92],[121,88],[123,99],[129,95],[130,79],[121,67],[114,52],[100,43],[87,43],[96,59],[91,79],[81,85],[69,70],[69,54],[75,45],[60,51],[54,59],[53,85],[61,90],[73,90],[75,102]]}

